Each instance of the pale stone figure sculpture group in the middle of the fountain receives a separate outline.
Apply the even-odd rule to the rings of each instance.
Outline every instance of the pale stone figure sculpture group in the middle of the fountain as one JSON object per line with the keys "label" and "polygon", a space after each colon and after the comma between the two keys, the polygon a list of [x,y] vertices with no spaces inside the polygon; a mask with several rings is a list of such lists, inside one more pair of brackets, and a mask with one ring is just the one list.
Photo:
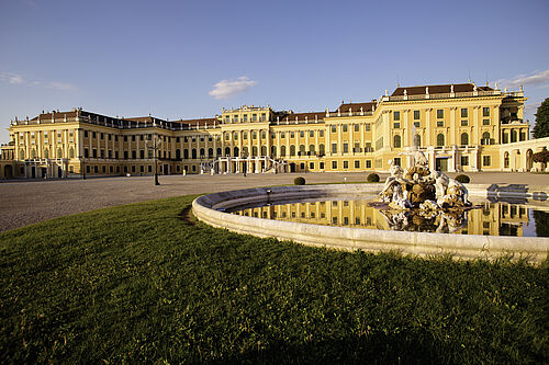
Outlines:
{"label": "pale stone figure sculpture group in the middle of the fountain", "polygon": [[472,208],[467,187],[440,171],[430,170],[422,151],[410,152],[414,166],[403,170],[391,160],[390,173],[379,194],[380,208],[395,230],[448,232],[467,224]]}

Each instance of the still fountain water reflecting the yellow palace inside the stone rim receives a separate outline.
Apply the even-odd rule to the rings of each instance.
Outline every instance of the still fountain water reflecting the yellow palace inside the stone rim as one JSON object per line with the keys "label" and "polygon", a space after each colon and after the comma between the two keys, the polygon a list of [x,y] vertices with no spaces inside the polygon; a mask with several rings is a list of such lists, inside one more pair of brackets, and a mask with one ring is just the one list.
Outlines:
{"label": "still fountain water reflecting the yellow palace inside the stone rim", "polygon": [[[549,237],[549,214],[525,205],[479,203],[480,208],[455,212],[382,210],[372,198],[303,201],[274,205],[243,206],[233,214],[248,217],[299,221],[314,225],[383,230],[449,232],[485,236]],[[534,219],[531,219],[534,218]]]}

